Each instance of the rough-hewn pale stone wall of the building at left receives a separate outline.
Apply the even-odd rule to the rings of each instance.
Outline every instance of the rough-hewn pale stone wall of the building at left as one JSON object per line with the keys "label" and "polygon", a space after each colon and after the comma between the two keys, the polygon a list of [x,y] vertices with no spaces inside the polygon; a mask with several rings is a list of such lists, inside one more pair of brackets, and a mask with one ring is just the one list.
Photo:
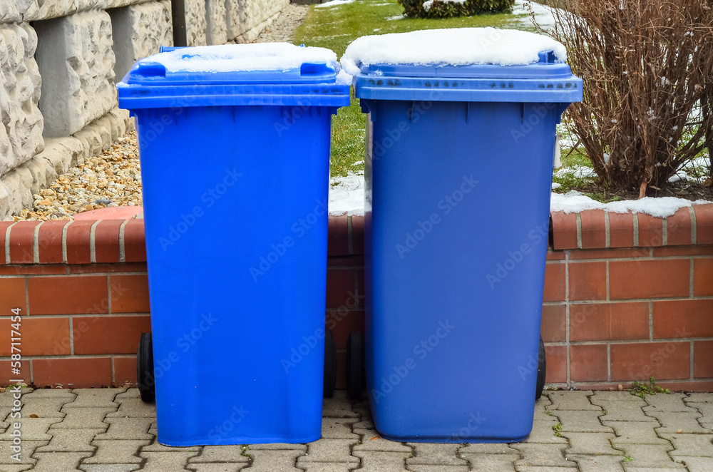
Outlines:
{"label": "rough-hewn pale stone wall of the building at left", "polygon": [[[187,43],[250,42],[288,3],[185,0]],[[171,15],[170,0],[0,0],[0,220],[133,127],[116,82],[173,46]]]}

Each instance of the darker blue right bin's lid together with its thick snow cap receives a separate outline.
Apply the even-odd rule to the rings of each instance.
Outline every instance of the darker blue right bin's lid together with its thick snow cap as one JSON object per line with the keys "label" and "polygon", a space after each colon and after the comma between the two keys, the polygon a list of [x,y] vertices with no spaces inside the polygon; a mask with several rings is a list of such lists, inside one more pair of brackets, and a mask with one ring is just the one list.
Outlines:
{"label": "darker blue right bin's lid together with its thick snow cap", "polygon": [[565,47],[528,31],[458,28],[363,36],[342,56],[356,96],[384,100],[574,102]]}

